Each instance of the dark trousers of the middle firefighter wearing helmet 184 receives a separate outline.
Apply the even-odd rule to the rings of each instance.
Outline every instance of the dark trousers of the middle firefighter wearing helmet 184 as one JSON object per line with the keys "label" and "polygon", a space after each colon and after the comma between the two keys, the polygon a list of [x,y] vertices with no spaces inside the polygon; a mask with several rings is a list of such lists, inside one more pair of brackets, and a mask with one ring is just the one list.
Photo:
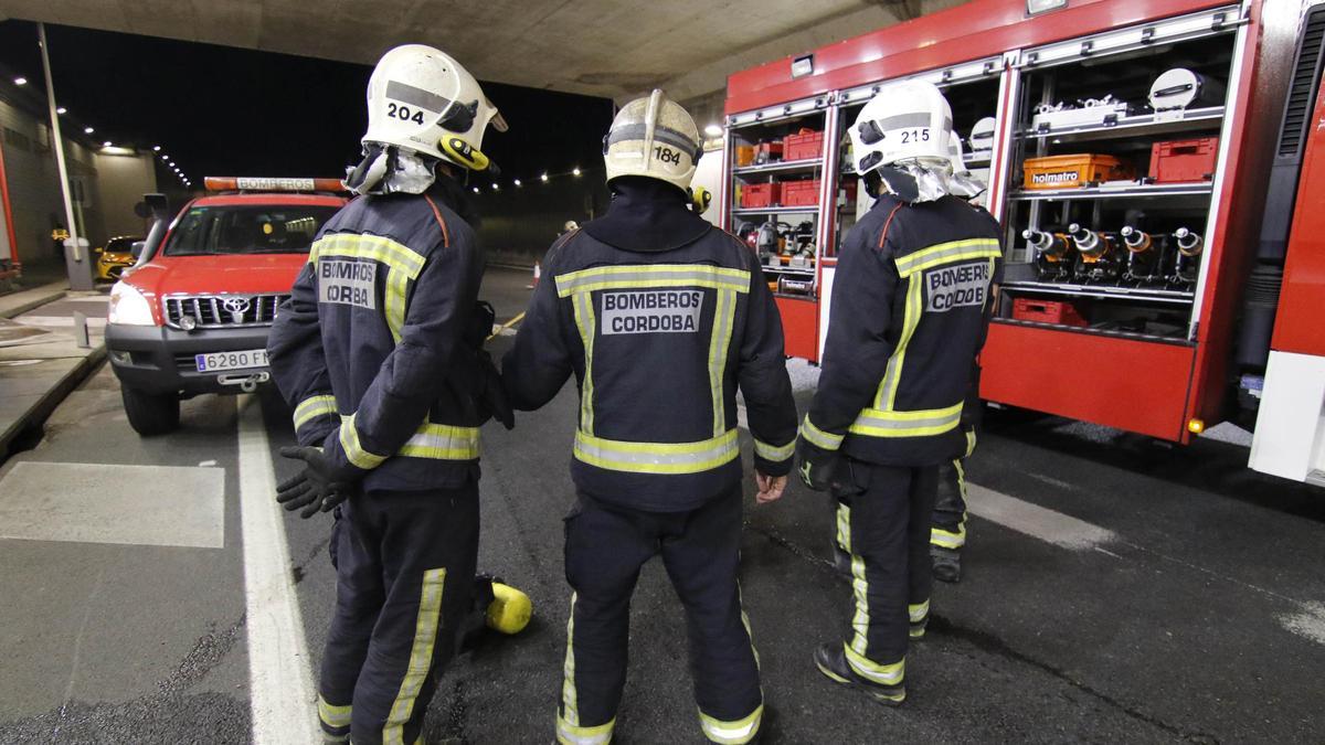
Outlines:
{"label": "dark trousers of the middle firefighter wearing helmet 184", "polygon": [[640,569],[662,557],[685,607],[700,726],[714,742],[759,732],[763,693],[737,579],[741,488],[690,512],[653,513],[580,496],[566,518],[566,669],[559,742],[606,744],[625,685],[631,595]]}

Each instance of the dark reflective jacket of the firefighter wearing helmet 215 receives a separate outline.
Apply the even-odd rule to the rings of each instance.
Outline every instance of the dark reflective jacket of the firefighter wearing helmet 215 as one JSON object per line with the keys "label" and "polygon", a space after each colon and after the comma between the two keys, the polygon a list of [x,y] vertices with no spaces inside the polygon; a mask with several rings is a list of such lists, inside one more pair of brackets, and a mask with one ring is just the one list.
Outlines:
{"label": "dark reflective jacket of the firefighter wearing helmet 215", "polygon": [[1002,273],[1000,229],[954,196],[882,196],[847,235],[819,390],[800,436],[884,465],[966,451],[962,411]]}

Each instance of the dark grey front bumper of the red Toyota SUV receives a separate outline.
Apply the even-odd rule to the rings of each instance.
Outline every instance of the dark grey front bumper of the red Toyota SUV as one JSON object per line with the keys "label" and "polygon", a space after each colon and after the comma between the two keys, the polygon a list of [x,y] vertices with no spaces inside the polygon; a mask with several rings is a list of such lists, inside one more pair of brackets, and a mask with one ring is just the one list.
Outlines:
{"label": "dark grey front bumper of the red Toyota SUV", "polygon": [[[237,383],[223,379],[266,380],[266,367],[199,372],[193,355],[212,351],[266,349],[268,326],[248,329],[197,329],[183,331],[163,326],[106,326],[106,351],[119,382],[150,394],[237,394]],[[261,382],[254,379],[254,382]]]}

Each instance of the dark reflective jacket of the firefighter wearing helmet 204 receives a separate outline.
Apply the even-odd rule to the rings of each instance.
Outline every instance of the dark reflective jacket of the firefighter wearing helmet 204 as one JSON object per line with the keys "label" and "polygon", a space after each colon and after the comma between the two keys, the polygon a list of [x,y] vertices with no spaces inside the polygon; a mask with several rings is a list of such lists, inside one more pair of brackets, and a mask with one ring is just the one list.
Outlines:
{"label": "dark reflective jacket of the firefighter wearing helmet 204", "polygon": [[439,178],[424,195],[360,196],[322,228],[268,341],[299,444],[368,490],[477,477],[478,372],[462,337],[482,280],[473,228]]}

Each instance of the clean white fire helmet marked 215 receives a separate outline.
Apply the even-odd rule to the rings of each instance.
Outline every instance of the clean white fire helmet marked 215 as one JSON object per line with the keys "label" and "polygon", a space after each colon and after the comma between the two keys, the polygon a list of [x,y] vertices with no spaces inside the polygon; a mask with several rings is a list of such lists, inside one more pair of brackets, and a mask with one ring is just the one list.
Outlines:
{"label": "clean white fire helmet marked 215", "polygon": [[924,81],[886,85],[856,115],[848,130],[856,172],[913,163],[950,163],[953,110],[938,86]]}

